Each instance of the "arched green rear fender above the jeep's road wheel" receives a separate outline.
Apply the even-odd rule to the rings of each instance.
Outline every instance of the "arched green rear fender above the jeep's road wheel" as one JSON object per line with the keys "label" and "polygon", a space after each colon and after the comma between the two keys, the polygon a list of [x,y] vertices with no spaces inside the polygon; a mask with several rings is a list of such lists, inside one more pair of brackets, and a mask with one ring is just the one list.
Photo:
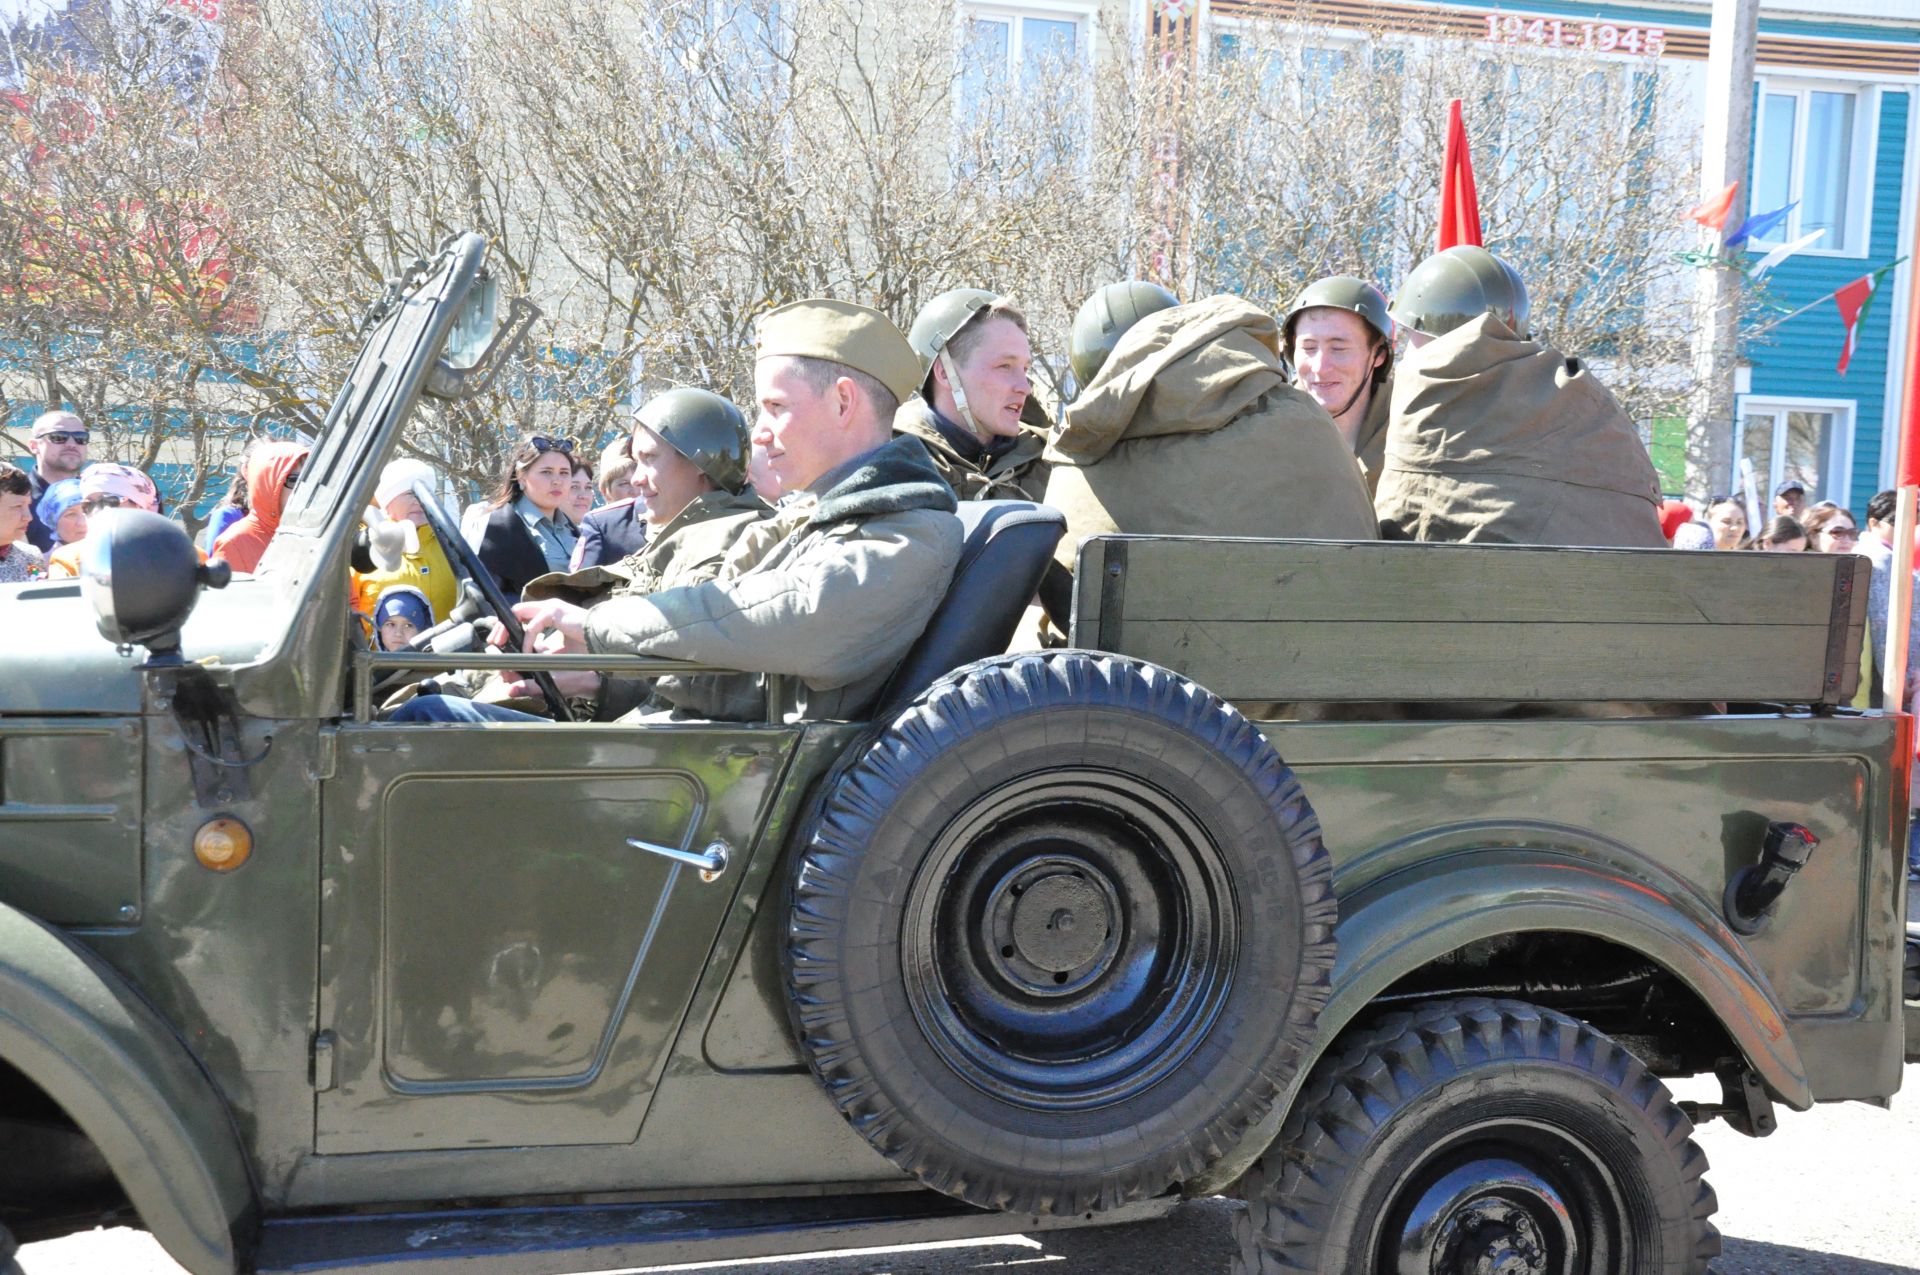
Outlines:
{"label": "arched green rear fender above the jeep's road wheel", "polygon": [[[1225,1191],[1252,1167],[1279,1137],[1319,1058],[1396,979],[1469,943],[1509,933],[1584,933],[1638,950],[1701,998],[1776,1098],[1809,1110],[1812,1087],[1799,1048],[1738,935],[1665,870],[1624,847],[1607,849],[1615,862],[1632,860],[1636,874],[1557,849],[1467,849],[1419,858],[1342,893],[1332,997],[1309,1054],[1273,1112],[1185,1192]],[[1356,874],[1361,864],[1346,868]]]}

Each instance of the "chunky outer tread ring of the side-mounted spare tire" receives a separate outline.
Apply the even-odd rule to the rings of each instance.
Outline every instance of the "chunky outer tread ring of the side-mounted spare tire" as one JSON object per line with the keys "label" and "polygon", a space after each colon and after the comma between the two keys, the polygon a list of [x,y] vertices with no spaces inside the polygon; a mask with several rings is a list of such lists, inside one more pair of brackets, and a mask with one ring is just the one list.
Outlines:
{"label": "chunky outer tread ring of the side-mounted spare tire", "polygon": [[[1116,1139],[1104,1173],[1068,1181],[1044,1169],[968,1164],[916,1114],[891,1108],[852,1039],[849,993],[841,983],[839,924],[856,889],[868,830],[912,785],[924,758],[995,722],[1025,714],[1064,716],[1085,707],[1131,709],[1177,724],[1238,766],[1273,812],[1292,853],[1304,956],[1279,1048],[1252,1060],[1235,1102],[1173,1146],[1142,1146],[1140,1139],[1123,1146]],[[1164,668],[1085,651],[996,657],[958,668],[849,749],[822,783],[808,828],[787,887],[783,964],[795,1035],[847,1121],[876,1150],[935,1191],[981,1208],[1021,1214],[1096,1212],[1162,1194],[1225,1156],[1246,1129],[1271,1112],[1313,1039],[1331,991],[1338,922],[1319,820],[1292,770],[1252,722]]]}

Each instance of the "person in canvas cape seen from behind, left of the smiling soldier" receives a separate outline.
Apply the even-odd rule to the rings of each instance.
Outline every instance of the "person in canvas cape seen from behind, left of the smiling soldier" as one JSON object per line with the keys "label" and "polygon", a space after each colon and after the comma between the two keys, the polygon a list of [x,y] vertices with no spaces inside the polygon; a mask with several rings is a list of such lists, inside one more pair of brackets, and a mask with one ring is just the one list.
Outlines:
{"label": "person in canvas cape seen from behind, left of the smiling soldier", "polygon": [[1069,359],[1081,388],[1046,453],[1064,566],[1102,532],[1377,538],[1352,449],[1286,380],[1273,315],[1108,284],[1081,305]]}

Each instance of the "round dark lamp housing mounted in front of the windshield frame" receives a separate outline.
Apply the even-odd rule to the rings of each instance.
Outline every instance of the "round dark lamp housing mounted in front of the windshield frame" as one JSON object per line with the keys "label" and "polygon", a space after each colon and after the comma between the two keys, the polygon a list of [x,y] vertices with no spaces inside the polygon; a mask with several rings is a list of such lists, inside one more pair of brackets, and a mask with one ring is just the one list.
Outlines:
{"label": "round dark lamp housing mounted in front of the windshield frame", "polygon": [[227,563],[200,565],[179,522],[142,509],[96,517],[81,547],[81,593],[100,636],[115,647],[146,647],[156,664],[179,664],[180,628],[202,586],[227,588]]}

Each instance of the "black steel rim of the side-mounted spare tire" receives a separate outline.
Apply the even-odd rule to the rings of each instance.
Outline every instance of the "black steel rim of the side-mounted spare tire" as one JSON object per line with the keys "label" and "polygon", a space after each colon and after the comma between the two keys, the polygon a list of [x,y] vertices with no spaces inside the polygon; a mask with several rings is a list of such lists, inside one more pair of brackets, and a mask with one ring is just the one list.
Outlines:
{"label": "black steel rim of the side-mounted spare tire", "polygon": [[979,1091],[1033,1110],[1123,1102],[1177,1071],[1233,987],[1233,879],[1167,793],[1098,768],[977,797],[914,878],[914,1018]]}

